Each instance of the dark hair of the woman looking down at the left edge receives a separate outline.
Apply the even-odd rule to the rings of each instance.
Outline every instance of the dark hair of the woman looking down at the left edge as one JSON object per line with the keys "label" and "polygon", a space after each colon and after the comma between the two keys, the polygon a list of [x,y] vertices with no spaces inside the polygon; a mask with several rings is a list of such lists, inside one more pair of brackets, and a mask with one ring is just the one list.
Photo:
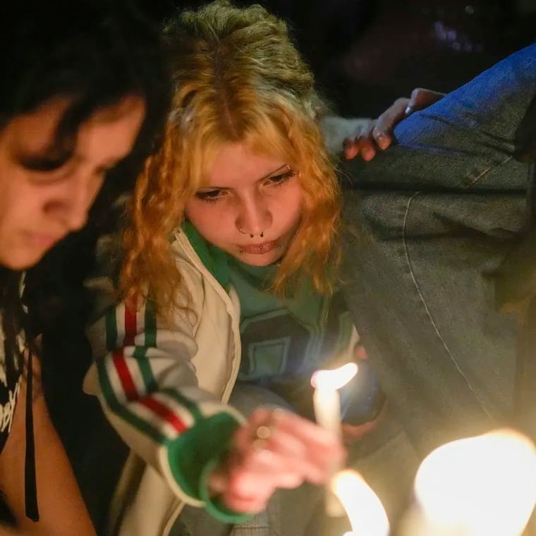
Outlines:
{"label": "dark hair of the woman looking down at the left edge", "polygon": [[[78,129],[97,110],[127,95],[145,101],[145,120],[133,151],[111,171],[92,207],[89,228],[94,231],[102,226],[111,202],[133,188],[142,162],[159,146],[171,98],[159,30],[130,0],[2,1],[0,135],[16,116],[35,111],[51,99],[66,98],[70,104],[56,130],[55,143],[68,158]],[[0,267],[8,372],[20,366],[13,337],[27,322],[19,280],[20,274]]]}

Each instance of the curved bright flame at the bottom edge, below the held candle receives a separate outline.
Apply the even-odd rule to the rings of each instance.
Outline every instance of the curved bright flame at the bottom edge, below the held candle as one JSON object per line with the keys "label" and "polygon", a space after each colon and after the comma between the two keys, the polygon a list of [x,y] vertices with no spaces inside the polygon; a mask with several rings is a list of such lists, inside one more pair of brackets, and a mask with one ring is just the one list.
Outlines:
{"label": "curved bright flame at the bottom edge, below the held candle", "polygon": [[353,536],[387,536],[389,521],[377,495],[363,477],[353,470],[337,473],[331,489],[344,506],[352,525]]}

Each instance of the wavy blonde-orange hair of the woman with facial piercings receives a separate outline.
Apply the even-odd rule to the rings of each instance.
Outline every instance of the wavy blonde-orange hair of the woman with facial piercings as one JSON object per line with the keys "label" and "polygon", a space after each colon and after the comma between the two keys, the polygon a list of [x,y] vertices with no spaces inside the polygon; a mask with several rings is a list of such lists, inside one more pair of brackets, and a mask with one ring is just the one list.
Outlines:
{"label": "wavy blonde-orange hair of the woman with facial piercings", "polygon": [[181,276],[170,235],[229,142],[284,157],[299,171],[302,218],[271,290],[282,295],[304,274],[329,293],[339,264],[340,191],[319,131],[325,106],[282,20],[261,6],[215,1],[186,11],[164,30],[176,92],[162,149],[138,179],[125,232],[121,288],[176,305]]}

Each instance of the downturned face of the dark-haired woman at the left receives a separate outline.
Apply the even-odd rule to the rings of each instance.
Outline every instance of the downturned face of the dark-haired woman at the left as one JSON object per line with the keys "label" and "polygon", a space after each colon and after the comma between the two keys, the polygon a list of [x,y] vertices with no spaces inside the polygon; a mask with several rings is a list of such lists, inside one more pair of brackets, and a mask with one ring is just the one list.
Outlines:
{"label": "downturned face of the dark-haired woman at the left", "polygon": [[0,264],[6,267],[30,267],[85,224],[106,171],[132,150],[145,116],[138,97],[97,111],[62,161],[54,140],[68,104],[54,99],[0,130]]}

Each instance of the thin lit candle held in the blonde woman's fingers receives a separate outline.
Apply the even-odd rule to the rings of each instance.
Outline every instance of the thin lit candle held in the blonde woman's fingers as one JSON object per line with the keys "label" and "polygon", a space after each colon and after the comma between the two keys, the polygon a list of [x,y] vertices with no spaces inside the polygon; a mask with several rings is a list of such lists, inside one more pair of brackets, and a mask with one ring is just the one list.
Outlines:
{"label": "thin lit candle held in the blonde woman's fingers", "polygon": [[[317,370],[312,374],[311,385],[315,388],[312,396],[317,423],[341,437],[341,398],[339,391],[358,372],[358,365],[347,363],[334,370]],[[334,467],[333,472],[339,470]],[[343,511],[339,501],[328,492],[326,497],[326,512],[328,516],[342,516]]]}

